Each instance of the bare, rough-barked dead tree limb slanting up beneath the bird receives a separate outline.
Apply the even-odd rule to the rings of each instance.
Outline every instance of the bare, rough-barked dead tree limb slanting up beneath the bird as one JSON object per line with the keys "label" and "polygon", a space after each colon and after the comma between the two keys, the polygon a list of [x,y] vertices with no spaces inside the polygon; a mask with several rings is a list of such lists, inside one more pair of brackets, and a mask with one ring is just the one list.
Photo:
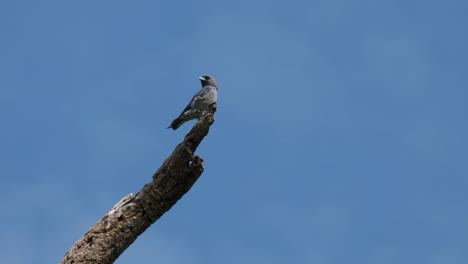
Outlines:
{"label": "bare, rough-barked dead tree limb slanting up beneath the bird", "polygon": [[135,195],[114,205],[65,254],[61,263],[113,263],[135,239],[186,193],[203,173],[195,150],[214,122],[216,103],[177,145],[174,152]]}

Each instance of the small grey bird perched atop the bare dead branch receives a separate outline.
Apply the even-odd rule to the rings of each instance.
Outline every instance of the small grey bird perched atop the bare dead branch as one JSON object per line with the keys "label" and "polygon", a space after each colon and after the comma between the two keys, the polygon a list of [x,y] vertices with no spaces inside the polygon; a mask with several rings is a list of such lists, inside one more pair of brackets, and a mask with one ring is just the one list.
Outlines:
{"label": "small grey bird perched atop the bare dead branch", "polygon": [[208,110],[208,107],[216,102],[218,98],[218,83],[216,80],[208,75],[201,76],[198,79],[201,81],[202,88],[193,96],[192,100],[179,117],[174,119],[167,128],[176,130],[189,120],[202,118]]}

